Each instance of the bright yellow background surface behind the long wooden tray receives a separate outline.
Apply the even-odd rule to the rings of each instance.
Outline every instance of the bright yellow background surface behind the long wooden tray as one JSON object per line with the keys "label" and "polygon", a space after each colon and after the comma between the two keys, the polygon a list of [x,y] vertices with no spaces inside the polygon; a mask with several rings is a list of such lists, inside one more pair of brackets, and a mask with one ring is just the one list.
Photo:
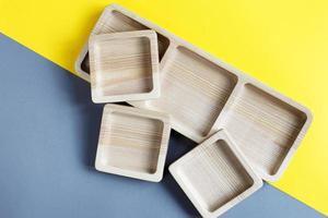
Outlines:
{"label": "bright yellow background surface behind the long wooden tray", "polygon": [[[110,2],[0,0],[0,31],[73,72],[77,55]],[[307,106],[313,125],[273,185],[328,215],[328,1],[116,3]]]}

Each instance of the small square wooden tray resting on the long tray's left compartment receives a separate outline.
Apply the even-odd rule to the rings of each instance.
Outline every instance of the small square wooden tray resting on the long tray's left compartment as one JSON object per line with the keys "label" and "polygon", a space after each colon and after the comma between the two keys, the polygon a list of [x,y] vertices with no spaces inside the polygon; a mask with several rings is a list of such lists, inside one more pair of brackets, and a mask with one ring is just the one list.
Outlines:
{"label": "small square wooden tray resting on the long tray's left compartment", "polygon": [[89,39],[94,102],[160,97],[157,36],[153,31],[93,35]]}

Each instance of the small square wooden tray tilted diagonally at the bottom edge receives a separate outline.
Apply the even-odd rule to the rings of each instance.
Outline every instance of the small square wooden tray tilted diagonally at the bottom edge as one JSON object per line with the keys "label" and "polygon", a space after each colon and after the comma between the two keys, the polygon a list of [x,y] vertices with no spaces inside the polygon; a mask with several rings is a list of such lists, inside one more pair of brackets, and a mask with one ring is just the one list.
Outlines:
{"label": "small square wooden tray tilted diagonally at the bottom edge", "polygon": [[202,217],[218,217],[262,186],[248,161],[223,131],[169,166]]}

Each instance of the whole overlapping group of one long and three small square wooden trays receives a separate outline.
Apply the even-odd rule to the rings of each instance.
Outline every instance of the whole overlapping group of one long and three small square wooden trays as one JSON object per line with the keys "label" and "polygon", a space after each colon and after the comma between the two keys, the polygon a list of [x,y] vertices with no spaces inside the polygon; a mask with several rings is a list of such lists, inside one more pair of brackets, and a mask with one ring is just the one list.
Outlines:
{"label": "whole overlapping group of one long and three small square wooden trays", "polygon": [[203,217],[278,180],[311,112],[139,15],[105,9],[77,62],[104,108],[95,167],[159,182],[171,128],[200,143],[169,171]]}

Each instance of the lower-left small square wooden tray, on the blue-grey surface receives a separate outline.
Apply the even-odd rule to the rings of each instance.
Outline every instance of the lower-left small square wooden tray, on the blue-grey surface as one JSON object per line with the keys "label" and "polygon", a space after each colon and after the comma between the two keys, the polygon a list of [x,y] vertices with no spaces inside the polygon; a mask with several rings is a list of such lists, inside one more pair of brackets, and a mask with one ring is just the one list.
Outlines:
{"label": "lower-left small square wooden tray, on the blue-grey surface", "polygon": [[108,104],[103,112],[95,168],[160,182],[169,132],[169,118],[164,113]]}

